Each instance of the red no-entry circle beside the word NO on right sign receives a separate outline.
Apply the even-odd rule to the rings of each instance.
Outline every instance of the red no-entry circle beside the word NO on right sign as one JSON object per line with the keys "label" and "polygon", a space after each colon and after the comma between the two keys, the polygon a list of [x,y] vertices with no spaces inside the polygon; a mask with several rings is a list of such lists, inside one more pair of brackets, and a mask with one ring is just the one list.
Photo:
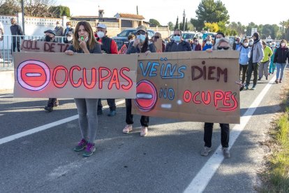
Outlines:
{"label": "red no-entry circle beside the word NO on right sign", "polygon": [[152,110],[157,101],[156,87],[148,80],[141,80],[136,86],[135,104],[141,111]]}

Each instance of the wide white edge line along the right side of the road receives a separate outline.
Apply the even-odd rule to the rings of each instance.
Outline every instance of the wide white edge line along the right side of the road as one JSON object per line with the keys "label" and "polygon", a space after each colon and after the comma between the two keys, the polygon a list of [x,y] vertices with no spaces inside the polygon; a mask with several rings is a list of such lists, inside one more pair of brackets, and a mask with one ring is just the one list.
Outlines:
{"label": "wide white edge line along the right side of the road", "polygon": [[[251,103],[251,106],[246,110],[244,115],[241,117],[241,124],[236,124],[235,127],[230,132],[230,143],[229,143],[229,149],[234,145],[235,141],[237,140],[239,134],[244,130],[244,127],[251,119],[252,115],[255,113],[255,110],[258,108],[260,102],[264,98],[264,96],[269,91],[269,88],[272,86],[272,83],[274,83],[276,76],[274,76],[269,83],[265,86],[265,88],[260,92],[260,94],[255,98],[255,101]],[[186,190],[184,190],[185,193],[188,192],[203,192],[205,188],[207,187],[209,181],[214,176],[214,173],[216,173],[216,170],[223,162],[223,152],[221,151],[221,145],[218,146],[216,151],[212,153],[212,156],[209,158],[209,160],[206,162],[204,166],[202,166],[202,169],[197,173],[195,178],[191,181],[191,183],[186,187]]]}

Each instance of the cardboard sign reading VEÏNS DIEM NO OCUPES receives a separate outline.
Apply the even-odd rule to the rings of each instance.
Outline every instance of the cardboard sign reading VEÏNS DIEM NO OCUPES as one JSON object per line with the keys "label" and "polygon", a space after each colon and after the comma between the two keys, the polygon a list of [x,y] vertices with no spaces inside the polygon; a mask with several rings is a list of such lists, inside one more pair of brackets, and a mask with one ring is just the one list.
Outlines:
{"label": "cardboard sign reading VE\u00cfNS DIEM NO OCUPES", "polygon": [[238,58],[231,50],[139,55],[133,113],[239,123]]}

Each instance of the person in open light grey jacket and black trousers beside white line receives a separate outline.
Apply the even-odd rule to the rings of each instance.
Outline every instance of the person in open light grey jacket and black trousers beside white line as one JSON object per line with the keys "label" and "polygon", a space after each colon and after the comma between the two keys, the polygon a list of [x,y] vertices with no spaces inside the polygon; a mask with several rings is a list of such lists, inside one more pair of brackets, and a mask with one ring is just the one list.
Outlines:
{"label": "person in open light grey jacket and black trousers beside white line", "polygon": [[252,72],[254,79],[253,79],[253,87],[251,88],[251,90],[255,90],[258,80],[258,66],[264,57],[263,45],[258,32],[255,32],[253,34],[253,40],[254,43],[250,53],[249,66],[246,77],[246,85],[244,87],[244,90],[249,90]]}

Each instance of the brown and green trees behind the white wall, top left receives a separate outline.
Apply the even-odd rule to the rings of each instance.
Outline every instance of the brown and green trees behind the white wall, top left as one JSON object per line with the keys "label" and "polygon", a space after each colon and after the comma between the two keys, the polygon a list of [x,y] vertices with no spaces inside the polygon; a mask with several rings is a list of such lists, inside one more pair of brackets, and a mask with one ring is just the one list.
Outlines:
{"label": "brown and green trees behind the white wall, top left", "polygon": [[[31,17],[70,16],[66,6],[54,6],[54,0],[23,0],[24,14]],[[21,0],[0,0],[0,15],[15,15],[21,12]]]}

